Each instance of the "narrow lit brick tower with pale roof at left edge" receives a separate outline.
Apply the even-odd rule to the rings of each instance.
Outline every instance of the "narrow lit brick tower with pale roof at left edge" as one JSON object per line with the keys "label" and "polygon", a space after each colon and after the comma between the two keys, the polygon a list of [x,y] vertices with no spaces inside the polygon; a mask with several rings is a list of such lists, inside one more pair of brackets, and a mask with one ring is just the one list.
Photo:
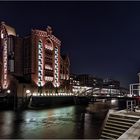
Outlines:
{"label": "narrow lit brick tower with pale roof at left edge", "polygon": [[0,24],[0,85],[2,90],[9,87],[9,74],[14,72],[14,50],[13,38],[16,36],[15,29],[6,25],[4,22]]}

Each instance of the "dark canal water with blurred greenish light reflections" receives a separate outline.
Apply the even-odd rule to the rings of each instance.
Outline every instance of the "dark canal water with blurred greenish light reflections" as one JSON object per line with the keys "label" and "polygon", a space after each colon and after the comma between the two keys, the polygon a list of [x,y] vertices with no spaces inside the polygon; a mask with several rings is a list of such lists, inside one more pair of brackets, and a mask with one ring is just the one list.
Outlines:
{"label": "dark canal water with blurred greenish light reflections", "polygon": [[86,106],[65,106],[22,112],[0,112],[1,139],[97,139],[105,114],[86,113]]}

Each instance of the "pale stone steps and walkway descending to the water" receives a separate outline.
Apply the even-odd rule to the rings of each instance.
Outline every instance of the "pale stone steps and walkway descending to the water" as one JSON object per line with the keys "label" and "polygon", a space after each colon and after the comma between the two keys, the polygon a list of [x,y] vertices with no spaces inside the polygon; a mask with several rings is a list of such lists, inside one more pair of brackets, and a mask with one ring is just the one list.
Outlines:
{"label": "pale stone steps and walkway descending to the water", "polygon": [[102,130],[101,139],[140,138],[140,109],[109,112]]}

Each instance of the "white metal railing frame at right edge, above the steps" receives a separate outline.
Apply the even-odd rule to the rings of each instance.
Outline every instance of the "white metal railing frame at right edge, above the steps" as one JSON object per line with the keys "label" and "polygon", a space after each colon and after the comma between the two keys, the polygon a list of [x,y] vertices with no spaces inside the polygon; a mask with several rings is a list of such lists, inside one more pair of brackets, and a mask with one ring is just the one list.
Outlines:
{"label": "white metal railing frame at right edge, above the steps", "polygon": [[140,83],[129,85],[130,96],[140,96]]}

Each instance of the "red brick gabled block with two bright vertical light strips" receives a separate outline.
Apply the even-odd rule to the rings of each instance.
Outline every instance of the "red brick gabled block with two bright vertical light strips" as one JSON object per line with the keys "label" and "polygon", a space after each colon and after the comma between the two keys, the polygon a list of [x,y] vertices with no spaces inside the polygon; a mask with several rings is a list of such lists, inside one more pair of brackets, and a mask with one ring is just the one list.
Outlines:
{"label": "red brick gabled block with two bright vertical light strips", "polygon": [[24,76],[40,89],[60,86],[60,45],[49,26],[46,31],[32,30],[24,38]]}

